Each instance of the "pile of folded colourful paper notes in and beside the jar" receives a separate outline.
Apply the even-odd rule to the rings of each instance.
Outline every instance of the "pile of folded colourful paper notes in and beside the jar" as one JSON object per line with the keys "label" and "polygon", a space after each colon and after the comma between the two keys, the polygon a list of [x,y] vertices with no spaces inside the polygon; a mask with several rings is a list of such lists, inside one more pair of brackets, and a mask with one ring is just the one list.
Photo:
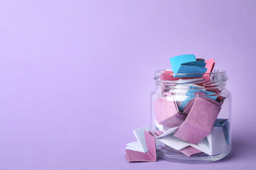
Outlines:
{"label": "pile of folded colourful paper notes in and beside the jar", "polygon": [[[219,118],[225,97],[218,88],[205,88],[211,80],[214,59],[196,59],[192,54],[170,59],[171,69],[160,75],[161,81],[175,81],[153,101],[156,130],[145,126],[133,133],[137,142],[128,143],[128,161],[156,161],[156,148],[169,146],[184,156],[214,156],[228,151],[229,121]],[[170,73],[170,74],[169,74]],[[193,78],[203,81],[191,83]],[[189,82],[189,83],[186,83]]]}

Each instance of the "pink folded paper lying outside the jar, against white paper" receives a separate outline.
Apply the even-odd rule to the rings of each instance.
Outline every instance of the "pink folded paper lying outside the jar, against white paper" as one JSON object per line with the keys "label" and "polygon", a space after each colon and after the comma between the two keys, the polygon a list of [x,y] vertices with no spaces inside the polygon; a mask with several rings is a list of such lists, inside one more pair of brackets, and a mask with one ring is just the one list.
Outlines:
{"label": "pink folded paper lying outside the jar, against white paper", "polygon": [[156,161],[156,138],[151,131],[144,131],[146,147],[148,152],[138,152],[135,150],[125,150],[128,161]]}

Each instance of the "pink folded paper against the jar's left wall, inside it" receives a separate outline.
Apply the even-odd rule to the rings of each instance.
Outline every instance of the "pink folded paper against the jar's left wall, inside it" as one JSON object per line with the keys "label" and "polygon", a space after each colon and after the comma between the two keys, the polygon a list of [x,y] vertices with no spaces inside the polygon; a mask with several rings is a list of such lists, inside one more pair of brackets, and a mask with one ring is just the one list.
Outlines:
{"label": "pink folded paper against the jar's left wall, inside it", "polygon": [[154,102],[154,110],[158,124],[166,127],[180,126],[186,116],[179,114],[174,101],[167,101],[166,97],[161,97]]}

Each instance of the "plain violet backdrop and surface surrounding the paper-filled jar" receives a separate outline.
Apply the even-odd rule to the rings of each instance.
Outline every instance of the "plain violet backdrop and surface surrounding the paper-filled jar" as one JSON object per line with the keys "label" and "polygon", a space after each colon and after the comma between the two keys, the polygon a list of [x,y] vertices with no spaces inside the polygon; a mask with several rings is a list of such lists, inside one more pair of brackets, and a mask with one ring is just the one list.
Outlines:
{"label": "plain violet backdrop and surface surrounding the paper-filled jar", "polygon": [[[2,1],[0,169],[256,169],[256,1]],[[226,69],[232,152],[129,163],[154,71],[195,54]]]}

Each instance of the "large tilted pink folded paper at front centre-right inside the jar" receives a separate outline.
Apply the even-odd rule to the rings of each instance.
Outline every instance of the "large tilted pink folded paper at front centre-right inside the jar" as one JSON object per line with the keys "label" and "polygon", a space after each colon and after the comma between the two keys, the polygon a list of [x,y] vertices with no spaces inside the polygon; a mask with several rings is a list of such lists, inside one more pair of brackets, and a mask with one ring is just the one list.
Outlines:
{"label": "large tilted pink folded paper at front centre-right inside the jar", "polygon": [[205,138],[211,129],[221,110],[220,103],[207,97],[195,97],[186,120],[173,135],[183,141],[198,144]]}

